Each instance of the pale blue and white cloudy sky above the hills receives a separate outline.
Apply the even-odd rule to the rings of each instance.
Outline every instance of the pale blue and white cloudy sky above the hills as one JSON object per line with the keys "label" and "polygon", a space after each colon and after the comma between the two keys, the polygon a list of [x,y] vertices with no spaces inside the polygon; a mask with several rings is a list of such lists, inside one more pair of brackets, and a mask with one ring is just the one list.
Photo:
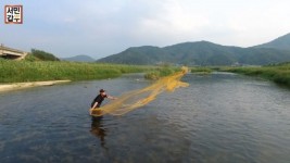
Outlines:
{"label": "pale blue and white cloudy sky above the hills", "polygon": [[[23,25],[4,24],[5,4],[23,4]],[[185,41],[250,47],[290,33],[289,7],[290,0],[1,0],[0,42],[94,59]]]}

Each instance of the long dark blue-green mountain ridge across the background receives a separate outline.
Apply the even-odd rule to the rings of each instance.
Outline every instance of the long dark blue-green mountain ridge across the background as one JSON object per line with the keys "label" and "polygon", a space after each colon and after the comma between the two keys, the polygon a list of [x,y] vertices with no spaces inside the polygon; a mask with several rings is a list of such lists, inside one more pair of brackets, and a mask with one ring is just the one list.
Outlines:
{"label": "long dark blue-green mountain ridge across the background", "polygon": [[135,47],[97,62],[122,64],[174,63],[186,65],[265,65],[290,61],[290,51],[266,48],[239,48],[209,41],[184,42],[164,48]]}

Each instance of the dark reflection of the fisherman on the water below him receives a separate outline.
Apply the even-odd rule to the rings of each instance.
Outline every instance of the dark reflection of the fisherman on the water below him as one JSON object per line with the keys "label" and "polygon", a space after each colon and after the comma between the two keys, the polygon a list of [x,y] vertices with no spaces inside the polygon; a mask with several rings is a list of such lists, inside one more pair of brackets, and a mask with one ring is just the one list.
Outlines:
{"label": "dark reflection of the fisherman on the water below him", "polygon": [[94,135],[97,138],[100,138],[101,147],[105,147],[105,128],[102,124],[103,116],[92,116],[91,117],[91,129],[90,133]]}

